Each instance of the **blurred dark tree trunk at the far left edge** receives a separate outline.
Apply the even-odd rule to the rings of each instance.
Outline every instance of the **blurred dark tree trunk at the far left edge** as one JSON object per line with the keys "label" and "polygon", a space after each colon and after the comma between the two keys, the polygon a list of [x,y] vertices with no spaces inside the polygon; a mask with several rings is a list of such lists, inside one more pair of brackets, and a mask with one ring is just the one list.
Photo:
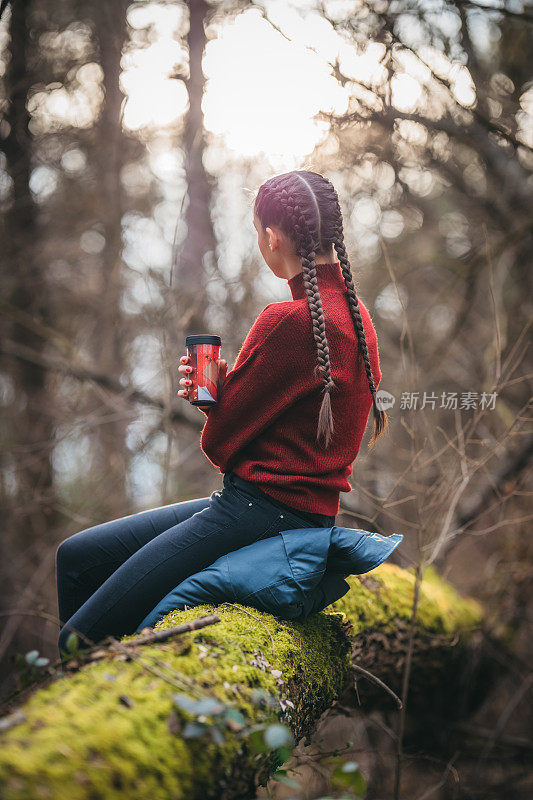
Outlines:
{"label": "blurred dark tree trunk at the far left edge", "polygon": [[[48,341],[50,286],[40,248],[38,211],[32,191],[34,153],[29,130],[28,93],[36,80],[36,43],[31,36],[33,3],[23,0],[9,22],[11,58],[5,75],[2,124],[9,202],[1,218],[3,253],[2,374],[9,387],[12,417],[2,424],[4,533],[1,537],[0,604],[21,586],[20,554],[28,566],[38,564],[36,544],[46,539],[57,520],[51,456],[54,420],[51,376],[40,363]],[[11,345],[11,348],[9,347]],[[9,378],[7,377],[9,375]],[[24,585],[24,583],[22,583]]]}

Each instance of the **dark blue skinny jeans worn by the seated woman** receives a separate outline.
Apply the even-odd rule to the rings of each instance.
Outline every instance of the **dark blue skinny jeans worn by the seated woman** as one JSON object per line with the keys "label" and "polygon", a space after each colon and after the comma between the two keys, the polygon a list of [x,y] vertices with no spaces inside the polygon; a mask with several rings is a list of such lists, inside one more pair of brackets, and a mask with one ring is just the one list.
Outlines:
{"label": "dark blue skinny jeans worn by the seated woman", "polygon": [[171,589],[226,553],[282,530],[334,524],[334,516],[291,509],[227,472],[209,497],[75,533],[56,552],[60,656],[72,632],[93,643],[135,633]]}

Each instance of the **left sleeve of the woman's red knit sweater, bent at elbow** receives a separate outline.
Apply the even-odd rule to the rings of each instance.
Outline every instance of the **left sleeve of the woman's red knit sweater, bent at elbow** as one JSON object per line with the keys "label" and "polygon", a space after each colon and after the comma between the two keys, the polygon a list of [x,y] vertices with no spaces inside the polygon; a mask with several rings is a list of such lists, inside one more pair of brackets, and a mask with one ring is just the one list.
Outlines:
{"label": "left sleeve of the woman's red knit sweater, bent at elbow", "polygon": [[[217,405],[204,412],[200,446],[223,473],[243,447],[309,390],[309,380],[302,378],[299,346],[305,332],[293,313],[280,305],[263,309],[226,375]],[[311,364],[311,376],[312,369]]]}

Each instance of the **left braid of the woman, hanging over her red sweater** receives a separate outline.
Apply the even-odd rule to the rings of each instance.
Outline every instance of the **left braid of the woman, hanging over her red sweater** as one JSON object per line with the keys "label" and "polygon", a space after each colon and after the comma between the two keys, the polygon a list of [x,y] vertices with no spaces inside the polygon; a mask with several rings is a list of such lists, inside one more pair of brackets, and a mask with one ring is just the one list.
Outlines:
{"label": "left braid of the woman, hanging over her red sweater", "polygon": [[[330,393],[332,389],[336,389],[337,387],[331,377],[329,346],[326,336],[326,320],[324,318],[322,299],[318,288],[315,264],[316,250],[319,247],[320,217],[318,216],[316,219],[316,225],[313,225],[313,216],[307,215],[306,211],[300,208],[286,189],[282,188],[280,190],[278,200],[296,235],[296,250],[302,259],[303,281],[307,294],[307,301],[309,303],[309,311],[313,323],[313,337],[317,350],[318,363],[315,367],[315,375],[321,374],[324,382],[322,404],[318,415],[317,441],[320,442],[322,439],[324,446],[327,448],[334,434]],[[316,230],[314,230],[314,228],[316,228]]]}

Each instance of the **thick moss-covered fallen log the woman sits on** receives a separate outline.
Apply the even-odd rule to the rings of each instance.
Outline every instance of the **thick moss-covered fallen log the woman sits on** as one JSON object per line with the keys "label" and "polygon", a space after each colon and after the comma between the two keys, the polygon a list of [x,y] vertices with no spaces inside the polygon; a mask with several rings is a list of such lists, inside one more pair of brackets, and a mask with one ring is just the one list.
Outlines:
{"label": "thick moss-covered fallen log the woman sits on", "polygon": [[[414,574],[385,563],[348,581],[348,594],[300,623],[231,604],[174,611],[158,629],[214,610],[221,621],[138,647],[131,660],[103,657],[37,689],[19,709],[21,721],[0,735],[0,797],[255,797],[277,766],[272,753],[257,753],[238,724],[219,741],[185,736],[192,717],[176,704],[176,695],[215,697],[234,706],[247,724],[281,722],[296,741],[310,735],[325,709],[346,698],[354,676],[364,710],[380,703],[393,707],[390,694],[353,672],[352,660],[400,692]],[[476,601],[426,569],[410,699],[416,702],[420,693],[427,698],[452,660],[460,663],[481,622]],[[275,706],[258,701],[258,689],[273,696]]]}

